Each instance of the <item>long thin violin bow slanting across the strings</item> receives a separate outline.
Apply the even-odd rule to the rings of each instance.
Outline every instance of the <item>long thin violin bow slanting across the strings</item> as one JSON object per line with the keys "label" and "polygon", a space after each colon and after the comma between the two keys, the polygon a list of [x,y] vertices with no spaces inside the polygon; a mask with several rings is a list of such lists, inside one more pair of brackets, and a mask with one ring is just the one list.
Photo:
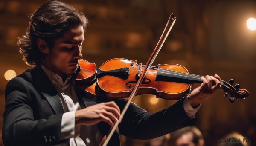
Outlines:
{"label": "long thin violin bow slanting across the strings", "polygon": [[[107,146],[109,140],[111,139],[114,131],[116,130],[119,121],[121,121],[122,117],[125,115],[125,112],[127,111],[129,105],[131,104],[132,100],[134,99],[140,84],[142,83],[143,79],[146,76],[146,73],[148,72],[148,69],[150,68],[150,66],[152,65],[152,63],[154,62],[155,58],[157,57],[157,54],[159,53],[160,49],[163,46],[163,43],[165,42],[167,36],[169,35],[174,23],[176,21],[176,17],[174,17],[173,14],[170,15],[169,20],[166,24],[165,29],[163,30],[163,34],[161,35],[156,48],[154,49],[153,53],[151,54],[151,57],[149,57],[148,62],[145,65],[145,68],[143,69],[142,73],[140,74],[140,78],[137,82],[137,84],[135,85],[133,91],[131,92],[130,97],[128,98],[127,103],[125,104],[125,107],[123,108],[122,112],[121,112],[121,116],[118,120],[116,120],[113,125],[111,126],[109,132],[107,135],[105,135],[101,141],[101,143],[99,144],[99,146]],[[139,74],[138,74],[139,75]]]}

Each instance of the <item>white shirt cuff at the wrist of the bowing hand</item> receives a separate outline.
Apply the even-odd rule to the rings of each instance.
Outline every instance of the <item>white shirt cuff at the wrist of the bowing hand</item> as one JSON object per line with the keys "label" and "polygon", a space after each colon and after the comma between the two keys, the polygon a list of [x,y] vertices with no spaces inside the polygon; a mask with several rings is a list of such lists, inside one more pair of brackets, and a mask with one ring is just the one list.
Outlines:
{"label": "white shirt cuff at the wrist of the bowing hand", "polygon": [[75,137],[75,112],[65,112],[61,119],[61,139]]}

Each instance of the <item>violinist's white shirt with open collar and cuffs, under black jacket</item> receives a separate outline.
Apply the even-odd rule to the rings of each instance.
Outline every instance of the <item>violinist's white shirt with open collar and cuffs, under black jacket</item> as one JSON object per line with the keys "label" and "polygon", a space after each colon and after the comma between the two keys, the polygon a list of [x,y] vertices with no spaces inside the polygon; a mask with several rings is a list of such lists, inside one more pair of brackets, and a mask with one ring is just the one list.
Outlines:
{"label": "violinist's white shirt with open collar and cuffs, under black jacket", "polygon": [[[69,139],[70,146],[98,145],[102,139],[102,135],[100,134],[97,125],[75,126],[75,111],[81,109],[81,107],[79,105],[75,86],[69,82],[71,76],[63,83],[62,78],[58,74],[55,74],[45,66],[42,66],[42,69],[57,90],[65,112],[61,119],[61,139]],[[188,97],[185,97],[183,106],[186,114],[190,118],[195,117],[195,113],[200,107],[198,106],[194,109],[190,106]],[[81,128],[82,130],[80,130]]]}

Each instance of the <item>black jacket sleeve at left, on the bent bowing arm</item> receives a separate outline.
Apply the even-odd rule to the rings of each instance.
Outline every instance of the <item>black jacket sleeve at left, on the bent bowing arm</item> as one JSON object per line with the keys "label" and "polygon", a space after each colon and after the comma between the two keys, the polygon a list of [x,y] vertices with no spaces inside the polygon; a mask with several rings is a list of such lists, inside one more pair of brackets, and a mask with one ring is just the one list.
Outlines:
{"label": "black jacket sleeve at left, on the bent bowing arm", "polygon": [[[6,107],[2,137],[5,146],[52,145],[61,143],[63,114],[34,119],[33,97],[38,94],[32,84],[15,77],[6,86]],[[39,95],[40,96],[40,95]],[[43,103],[42,103],[43,104]],[[36,108],[36,107],[35,107]]]}

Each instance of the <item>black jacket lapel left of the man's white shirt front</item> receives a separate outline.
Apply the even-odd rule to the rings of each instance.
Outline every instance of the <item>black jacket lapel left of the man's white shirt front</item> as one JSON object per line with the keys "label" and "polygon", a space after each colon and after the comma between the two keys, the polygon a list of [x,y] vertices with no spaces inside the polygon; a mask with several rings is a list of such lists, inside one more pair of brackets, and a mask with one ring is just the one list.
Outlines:
{"label": "black jacket lapel left of the man's white shirt front", "polygon": [[41,93],[42,97],[45,97],[45,99],[52,106],[53,111],[56,114],[64,113],[58,92],[52,85],[49,77],[45,74],[41,66],[36,66],[33,69],[32,78],[35,89]]}

